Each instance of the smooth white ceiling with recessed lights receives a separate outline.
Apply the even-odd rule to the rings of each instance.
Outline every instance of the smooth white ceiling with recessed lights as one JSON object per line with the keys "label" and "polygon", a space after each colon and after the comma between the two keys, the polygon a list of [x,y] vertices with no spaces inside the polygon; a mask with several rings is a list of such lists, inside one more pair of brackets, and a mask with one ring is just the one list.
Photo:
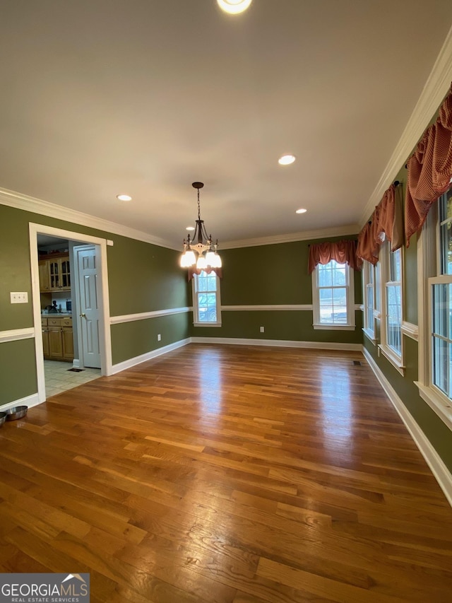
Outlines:
{"label": "smooth white ceiling with recessed lights", "polygon": [[451,0],[1,0],[0,187],[173,247],[194,180],[220,248],[353,232],[451,24]]}

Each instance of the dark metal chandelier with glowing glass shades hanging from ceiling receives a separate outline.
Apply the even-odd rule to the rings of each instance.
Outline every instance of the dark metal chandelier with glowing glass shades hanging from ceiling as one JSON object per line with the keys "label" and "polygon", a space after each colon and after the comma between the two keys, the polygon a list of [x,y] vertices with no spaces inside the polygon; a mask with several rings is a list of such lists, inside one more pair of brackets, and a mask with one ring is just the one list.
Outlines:
{"label": "dark metal chandelier with glowing glass shades hanging from ceiling", "polygon": [[[210,272],[213,268],[221,268],[221,258],[217,253],[218,240],[212,242],[212,235],[207,236],[204,221],[201,220],[201,206],[199,203],[199,189],[202,189],[203,182],[193,182],[191,185],[198,189],[198,219],[193,237],[187,236],[184,239],[184,253],[181,256],[181,267],[196,267],[196,271],[205,270]],[[196,257],[196,254],[198,257]]]}

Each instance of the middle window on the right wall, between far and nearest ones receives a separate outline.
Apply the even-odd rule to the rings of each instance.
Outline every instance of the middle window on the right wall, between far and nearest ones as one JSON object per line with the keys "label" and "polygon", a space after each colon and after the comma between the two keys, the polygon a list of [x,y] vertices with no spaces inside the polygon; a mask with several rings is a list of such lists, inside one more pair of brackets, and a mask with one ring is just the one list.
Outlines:
{"label": "middle window on the right wall, between far and nearest ones", "polygon": [[390,242],[381,246],[381,351],[403,373],[402,349],[402,250],[391,252]]}

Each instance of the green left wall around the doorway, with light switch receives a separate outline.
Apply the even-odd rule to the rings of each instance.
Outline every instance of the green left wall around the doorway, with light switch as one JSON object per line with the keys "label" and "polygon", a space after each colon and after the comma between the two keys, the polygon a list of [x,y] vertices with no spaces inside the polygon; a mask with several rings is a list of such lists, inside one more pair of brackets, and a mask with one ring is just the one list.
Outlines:
{"label": "green left wall around the doorway, with light switch", "polygon": [[[0,332],[33,327],[30,222],[113,241],[107,247],[112,317],[189,305],[179,252],[0,205]],[[10,291],[27,291],[29,303],[11,304]],[[189,313],[114,324],[111,332],[113,363],[118,363],[186,339]],[[0,343],[0,361],[0,406],[37,391],[34,339]]]}

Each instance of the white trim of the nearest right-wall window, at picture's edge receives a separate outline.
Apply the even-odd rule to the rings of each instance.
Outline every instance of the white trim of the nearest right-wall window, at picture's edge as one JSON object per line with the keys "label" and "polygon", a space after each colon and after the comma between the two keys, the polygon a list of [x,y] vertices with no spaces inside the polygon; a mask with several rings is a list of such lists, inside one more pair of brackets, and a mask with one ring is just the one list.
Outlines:
{"label": "white trim of the nearest right-wall window, at picture's edge", "polygon": [[[438,205],[430,209],[427,220],[417,236],[417,315],[419,323],[418,374],[415,385],[441,421],[452,431],[451,400],[432,382],[432,304],[430,279],[438,278],[441,253],[439,245]],[[436,253],[434,252],[436,250]]]}

